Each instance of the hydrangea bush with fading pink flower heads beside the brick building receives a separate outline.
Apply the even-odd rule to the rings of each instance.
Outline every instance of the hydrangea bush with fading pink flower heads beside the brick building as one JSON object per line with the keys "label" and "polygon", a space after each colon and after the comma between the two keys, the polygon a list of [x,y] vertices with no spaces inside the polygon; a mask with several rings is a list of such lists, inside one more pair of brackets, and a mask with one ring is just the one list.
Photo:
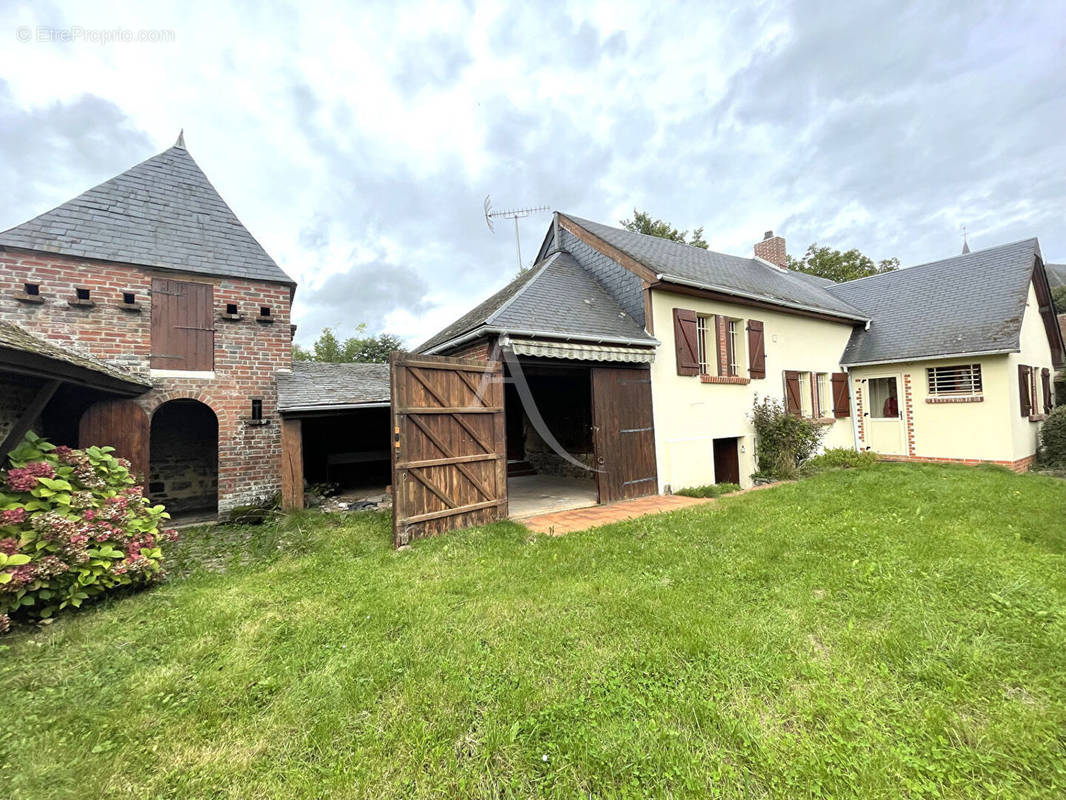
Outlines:
{"label": "hydrangea bush with fading pink flower heads beside the brick building", "polygon": [[112,447],[72,450],[29,433],[0,470],[0,633],[122,587],[161,580],[169,514]]}

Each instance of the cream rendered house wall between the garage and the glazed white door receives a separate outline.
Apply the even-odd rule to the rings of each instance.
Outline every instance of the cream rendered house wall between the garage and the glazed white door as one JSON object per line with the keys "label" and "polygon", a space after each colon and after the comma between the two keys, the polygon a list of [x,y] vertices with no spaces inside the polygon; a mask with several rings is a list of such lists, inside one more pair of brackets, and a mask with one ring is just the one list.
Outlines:
{"label": "cream rendered house wall between the garage and the glazed white door", "polygon": [[[738,319],[760,320],[764,326],[766,377],[746,385],[701,383],[699,377],[677,374],[674,341],[674,308],[689,308],[698,315],[725,315]],[[651,365],[651,399],[656,426],[656,459],[659,491],[672,491],[714,482],[713,445],[715,438],[740,438],[741,485],[752,484],[755,465],[755,430],[750,412],[755,397],[771,396],[782,401],[782,372],[842,371],[840,356],[852,333],[852,325],[828,322],[780,311],[750,308],[739,304],[702,300],[688,294],[651,290],[651,317],[655,335],[662,341]],[[747,377],[745,355],[738,364],[741,377]],[[828,387],[831,402],[831,385]],[[837,419],[827,426],[825,447],[854,447],[852,418]]]}

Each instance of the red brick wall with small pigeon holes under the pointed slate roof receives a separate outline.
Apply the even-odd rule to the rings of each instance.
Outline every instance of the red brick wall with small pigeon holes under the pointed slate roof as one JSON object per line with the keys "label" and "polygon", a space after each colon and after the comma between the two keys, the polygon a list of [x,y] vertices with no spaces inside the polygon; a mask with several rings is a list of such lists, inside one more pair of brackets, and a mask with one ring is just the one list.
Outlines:
{"label": "red brick wall with small pigeon holes under the pointed slate roof", "polygon": [[[274,494],[281,462],[275,374],[292,367],[290,287],[0,249],[0,320],[149,377],[154,275],[214,286],[214,379],[151,378],[155,388],[136,402],[149,414],[178,398],[211,406],[219,418],[221,511]],[[15,300],[26,283],[39,285],[43,303]],[[95,306],[69,305],[78,287],[90,289]],[[140,313],[120,307],[123,291],[135,292]],[[236,303],[244,319],[220,319],[227,303]],[[256,321],[264,305],[273,323]],[[262,399],[269,425],[245,423],[254,397]]]}

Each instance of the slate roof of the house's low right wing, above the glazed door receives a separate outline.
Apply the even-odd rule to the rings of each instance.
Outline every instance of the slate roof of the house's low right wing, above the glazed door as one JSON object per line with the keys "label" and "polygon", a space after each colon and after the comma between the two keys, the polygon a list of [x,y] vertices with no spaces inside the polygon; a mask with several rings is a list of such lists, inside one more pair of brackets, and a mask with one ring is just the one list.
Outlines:
{"label": "slate roof of the house's low right wing, above the glazed door", "polygon": [[869,330],[852,332],[840,363],[1017,351],[1039,254],[1025,239],[827,287],[872,317]]}

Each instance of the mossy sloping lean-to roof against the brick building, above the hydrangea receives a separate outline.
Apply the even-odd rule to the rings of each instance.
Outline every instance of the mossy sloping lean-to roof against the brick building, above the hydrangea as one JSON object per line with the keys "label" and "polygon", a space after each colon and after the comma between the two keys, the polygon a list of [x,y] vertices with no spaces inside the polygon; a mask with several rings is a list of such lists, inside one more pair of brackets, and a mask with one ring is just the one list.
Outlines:
{"label": "mossy sloping lean-to roof against the brick building, above the hydrangea", "polygon": [[129,396],[151,388],[146,379],[34,336],[12,322],[0,322],[0,371],[38,375]]}

